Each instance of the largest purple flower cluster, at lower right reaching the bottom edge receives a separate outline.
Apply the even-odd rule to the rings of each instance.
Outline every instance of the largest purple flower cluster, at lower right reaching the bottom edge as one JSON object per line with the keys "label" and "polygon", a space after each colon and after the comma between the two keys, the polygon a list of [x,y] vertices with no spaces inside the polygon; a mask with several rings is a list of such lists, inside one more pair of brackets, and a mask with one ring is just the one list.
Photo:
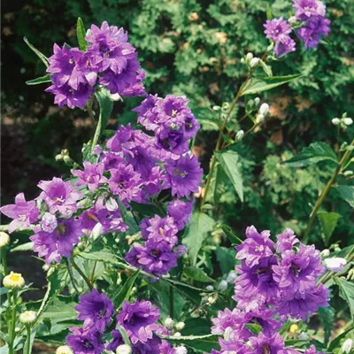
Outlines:
{"label": "largest purple flower cluster, at lower right reaching the bottom edge", "polygon": [[[236,258],[241,260],[236,267],[237,305],[212,320],[212,333],[224,336],[219,340],[220,353],[298,354],[285,348],[278,330],[286,319],[304,320],[328,305],[328,290],[317,285],[325,271],[319,250],[299,242],[290,229],[278,235],[277,242],[270,239],[269,231],[258,233],[255,227],[248,227],[246,236],[236,247]],[[258,335],[251,331],[252,324],[261,329]],[[312,347],[305,353],[318,352]]]}

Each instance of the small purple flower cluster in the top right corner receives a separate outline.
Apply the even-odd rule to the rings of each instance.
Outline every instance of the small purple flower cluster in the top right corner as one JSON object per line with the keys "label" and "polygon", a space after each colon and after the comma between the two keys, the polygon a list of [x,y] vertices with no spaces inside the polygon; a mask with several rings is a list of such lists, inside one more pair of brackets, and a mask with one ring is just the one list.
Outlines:
{"label": "small purple flower cluster in the top right corner", "polygon": [[[329,34],[330,20],[325,18],[326,6],[319,0],[293,0],[295,17],[289,19],[296,24],[296,35],[304,42],[305,49],[316,48],[322,35]],[[296,50],[296,43],[290,37],[292,28],[283,19],[267,20],[264,25],[266,37],[274,42],[274,54],[281,58]]]}

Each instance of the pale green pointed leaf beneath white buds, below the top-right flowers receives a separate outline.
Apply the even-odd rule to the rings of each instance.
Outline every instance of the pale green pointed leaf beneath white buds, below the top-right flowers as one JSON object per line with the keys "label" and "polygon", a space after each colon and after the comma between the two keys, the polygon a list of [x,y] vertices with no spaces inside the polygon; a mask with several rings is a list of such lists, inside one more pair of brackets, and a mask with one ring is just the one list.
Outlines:
{"label": "pale green pointed leaf beneath white buds, below the top-right flowers", "polygon": [[273,77],[255,77],[250,79],[248,83],[242,88],[242,95],[254,95],[259,92],[268,91],[269,89],[277,88],[278,86],[294,81],[301,77],[301,74],[288,76],[273,76]]}

